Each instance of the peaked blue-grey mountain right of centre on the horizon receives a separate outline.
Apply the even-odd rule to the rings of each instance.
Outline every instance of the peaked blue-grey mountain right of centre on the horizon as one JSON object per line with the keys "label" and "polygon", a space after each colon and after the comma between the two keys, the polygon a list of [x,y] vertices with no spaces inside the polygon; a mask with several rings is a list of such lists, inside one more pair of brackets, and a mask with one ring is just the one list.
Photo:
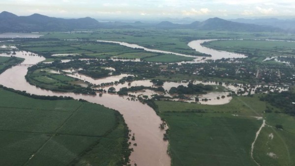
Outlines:
{"label": "peaked blue-grey mountain right of centre on the horizon", "polygon": [[204,22],[194,22],[187,26],[188,28],[202,29],[202,30],[229,30],[229,31],[282,31],[282,29],[271,26],[260,26],[254,24],[236,23],[232,21],[223,20],[220,18],[210,18]]}

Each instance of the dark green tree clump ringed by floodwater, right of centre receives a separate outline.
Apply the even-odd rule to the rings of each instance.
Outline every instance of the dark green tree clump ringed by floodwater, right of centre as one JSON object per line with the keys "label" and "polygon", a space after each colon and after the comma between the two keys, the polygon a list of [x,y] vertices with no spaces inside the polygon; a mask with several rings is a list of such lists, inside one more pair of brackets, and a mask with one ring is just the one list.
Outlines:
{"label": "dark green tree clump ringed by floodwater, right of centre", "polygon": [[213,86],[211,85],[204,85],[202,83],[193,84],[188,83],[187,87],[183,85],[179,85],[177,87],[172,87],[169,90],[170,94],[204,94],[206,91],[213,90]]}

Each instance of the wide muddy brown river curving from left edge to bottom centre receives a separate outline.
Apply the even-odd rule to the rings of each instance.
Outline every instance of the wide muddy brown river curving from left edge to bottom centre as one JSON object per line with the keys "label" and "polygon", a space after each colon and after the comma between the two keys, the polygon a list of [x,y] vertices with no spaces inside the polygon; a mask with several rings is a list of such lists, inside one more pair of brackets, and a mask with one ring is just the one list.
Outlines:
{"label": "wide muddy brown river curving from left edge to bottom centre", "polygon": [[[17,57],[25,58],[23,63],[36,64],[44,57],[26,56],[21,52],[17,52]],[[103,94],[98,95],[82,95],[74,93],[61,93],[44,90],[27,83],[25,75],[29,66],[14,66],[0,75],[0,84],[14,88],[16,90],[25,90],[27,93],[36,95],[49,96],[70,96],[75,99],[84,99],[92,103],[104,105],[105,107],[118,110],[123,114],[123,118],[131,133],[135,133],[135,141],[137,146],[133,146],[134,152],[131,153],[131,163],[138,166],[170,166],[171,159],[167,154],[168,142],[163,140],[164,131],[159,129],[162,123],[159,116],[156,115],[147,105],[138,101],[129,101],[118,95]]]}

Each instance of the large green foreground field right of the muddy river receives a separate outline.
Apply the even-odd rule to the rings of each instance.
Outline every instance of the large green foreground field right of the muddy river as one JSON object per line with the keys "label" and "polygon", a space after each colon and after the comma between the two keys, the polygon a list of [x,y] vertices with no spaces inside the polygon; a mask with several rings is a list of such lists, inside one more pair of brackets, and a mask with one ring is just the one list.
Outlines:
{"label": "large green foreground field right of the muddy river", "polygon": [[[234,97],[225,105],[155,101],[158,114],[169,126],[172,166],[256,166],[251,144],[266,119],[253,156],[261,166],[294,165],[295,118],[263,113],[269,104],[254,97]],[[282,124],[284,130],[274,126]],[[285,130],[286,128],[286,130]],[[270,136],[273,135],[273,139]],[[270,140],[271,139],[271,140]],[[275,155],[273,155],[273,154]]]}

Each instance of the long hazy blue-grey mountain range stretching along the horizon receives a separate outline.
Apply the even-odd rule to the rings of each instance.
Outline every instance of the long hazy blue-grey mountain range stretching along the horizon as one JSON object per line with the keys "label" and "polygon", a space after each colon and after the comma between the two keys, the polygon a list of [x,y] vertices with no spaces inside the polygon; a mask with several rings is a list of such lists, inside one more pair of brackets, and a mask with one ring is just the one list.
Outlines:
{"label": "long hazy blue-grey mountain range stretching along the horizon", "polygon": [[203,22],[195,21],[191,24],[176,24],[163,21],[158,24],[142,22],[107,22],[102,23],[86,17],[79,19],[62,19],[48,17],[41,14],[30,16],[17,16],[13,13],[3,11],[0,13],[0,33],[3,32],[32,32],[32,31],[71,31],[75,29],[94,28],[160,28],[160,29],[200,29],[200,30],[229,30],[229,31],[284,31],[270,25],[257,25],[238,23],[220,18],[210,18]]}

